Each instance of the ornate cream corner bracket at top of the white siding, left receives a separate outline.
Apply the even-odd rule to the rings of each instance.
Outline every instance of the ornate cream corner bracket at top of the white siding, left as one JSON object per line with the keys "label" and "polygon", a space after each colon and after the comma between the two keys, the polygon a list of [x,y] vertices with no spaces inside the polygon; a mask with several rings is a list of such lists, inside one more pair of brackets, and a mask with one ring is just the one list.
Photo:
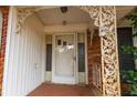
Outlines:
{"label": "ornate cream corner bracket at top of the white siding, left", "polygon": [[17,25],[15,33],[21,31],[25,19],[35,12],[35,8],[17,8]]}

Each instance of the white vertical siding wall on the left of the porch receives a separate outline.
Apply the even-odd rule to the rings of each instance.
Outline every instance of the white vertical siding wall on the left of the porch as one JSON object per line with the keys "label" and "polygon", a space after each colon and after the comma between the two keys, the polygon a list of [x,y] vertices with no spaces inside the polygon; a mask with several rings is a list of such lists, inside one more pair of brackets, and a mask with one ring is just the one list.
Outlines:
{"label": "white vertical siding wall on the left of the porch", "polygon": [[[15,16],[15,10],[14,10]],[[15,17],[13,17],[15,22]],[[42,83],[44,69],[43,25],[35,16],[29,17],[20,34],[14,22],[10,37],[9,59],[3,95],[27,95]]]}

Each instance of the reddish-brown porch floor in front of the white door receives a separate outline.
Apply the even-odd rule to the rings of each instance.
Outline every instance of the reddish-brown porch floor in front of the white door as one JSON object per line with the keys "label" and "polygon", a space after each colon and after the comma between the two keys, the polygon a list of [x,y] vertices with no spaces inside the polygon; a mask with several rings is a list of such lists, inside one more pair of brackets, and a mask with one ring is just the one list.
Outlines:
{"label": "reddish-brown porch floor in front of the white door", "polygon": [[92,91],[85,85],[65,85],[43,83],[28,96],[92,96]]}

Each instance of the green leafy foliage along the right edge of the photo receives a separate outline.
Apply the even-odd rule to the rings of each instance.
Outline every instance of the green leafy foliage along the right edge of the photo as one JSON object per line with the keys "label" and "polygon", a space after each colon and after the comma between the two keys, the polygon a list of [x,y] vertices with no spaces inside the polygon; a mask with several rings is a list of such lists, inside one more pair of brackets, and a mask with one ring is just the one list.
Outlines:
{"label": "green leafy foliage along the right edge of the photo", "polygon": [[[136,11],[137,12],[137,11]],[[131,21],[134,29],[133,37],[137,38],[137,13],[133,12],[126,17],[127,20]],[[137,59],[137,47],[123,45],[123,53],[133,54],[134,59]],[[135,69],[134,69],[135,70]],[[137,95],[137,71],[122,71],[122,79],[129,84],[129,89],[125,90],[129,95]]]}

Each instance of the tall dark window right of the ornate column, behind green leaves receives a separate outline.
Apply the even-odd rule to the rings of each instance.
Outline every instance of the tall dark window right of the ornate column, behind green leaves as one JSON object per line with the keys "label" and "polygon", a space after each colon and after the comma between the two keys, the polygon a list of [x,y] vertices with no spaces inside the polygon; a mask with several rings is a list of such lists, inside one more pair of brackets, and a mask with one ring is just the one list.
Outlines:
{"label": "tall dark window right of the ornate column, behind green leaves", "polygon": [[133,28],[117,29],[118,51],[119,51],[119,68],[120,70],[134,70],[135,62],[133,54],[124,53],[122,45],[133,45]]}

